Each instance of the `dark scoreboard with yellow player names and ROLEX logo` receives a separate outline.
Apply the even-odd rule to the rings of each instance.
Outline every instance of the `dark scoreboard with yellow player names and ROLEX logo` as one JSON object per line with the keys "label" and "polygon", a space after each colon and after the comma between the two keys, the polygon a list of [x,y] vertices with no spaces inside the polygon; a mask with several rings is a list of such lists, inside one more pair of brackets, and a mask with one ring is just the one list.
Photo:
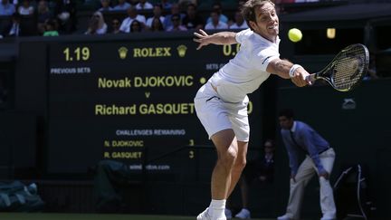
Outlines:
{"label": "dark scoreboard with yellow player names and ROLEX logo", "polygon": [[[240,45],[196,46],[190,36],[48,43],[48,173],[114,159],[166,174],[201,157],[196,148],[211,148],[198,159],[215,157],[193,99]],[[259,92],[250,100],[251,145],[260,146]]]}

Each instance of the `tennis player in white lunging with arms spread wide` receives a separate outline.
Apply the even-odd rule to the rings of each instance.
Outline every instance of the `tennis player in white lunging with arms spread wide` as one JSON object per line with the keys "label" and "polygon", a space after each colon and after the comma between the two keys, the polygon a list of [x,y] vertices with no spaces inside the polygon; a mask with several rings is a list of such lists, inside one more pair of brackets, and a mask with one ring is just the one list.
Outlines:
{"label": "tennis player in white lunging with arms spread wide", "polygon": [[212,201],[196,219],[224,220],[226,198],[232,193],[243,167],[249,142],[248,93],[260,87],[271,74],[291,79],[297,86],[308,84],[309,72],[281,60],[279,18],[270,0],[249,0],[243,5],[249,29],[239,33],[195,33],[197,49],[208,44],[241,43],[240,51],[196,93],[196,114],[217,150],[212,173]]}

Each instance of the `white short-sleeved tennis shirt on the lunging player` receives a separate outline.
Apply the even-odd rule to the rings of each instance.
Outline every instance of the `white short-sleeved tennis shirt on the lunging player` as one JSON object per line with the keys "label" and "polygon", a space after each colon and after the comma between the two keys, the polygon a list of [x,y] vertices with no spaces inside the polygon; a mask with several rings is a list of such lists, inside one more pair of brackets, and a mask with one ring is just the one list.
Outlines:
{"label": "white short-sleeved tennis shirt on the lunging player", "polygon": [[239,52],[209,79],[220,98],[228,102],[243,101],[258,89],[271,74],[266,72],[269,62],[280,57],[278,37],[272,43],[246,29],[236,33],[236,41],[241,43]]}

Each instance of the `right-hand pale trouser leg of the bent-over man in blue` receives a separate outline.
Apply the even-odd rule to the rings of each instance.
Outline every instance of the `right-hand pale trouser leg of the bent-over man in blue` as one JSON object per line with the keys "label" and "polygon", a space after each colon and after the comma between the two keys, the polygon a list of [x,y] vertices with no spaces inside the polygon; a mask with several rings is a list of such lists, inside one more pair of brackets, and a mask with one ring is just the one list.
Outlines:
{"label": "right-hand pale trouser leg of the bent-over man in blue", "polygon": [[[322,166],[331,174],[334,166],[335,152],[333,148],[329,148],[327,151],[319,155]],[[321,219],[331,220],[336,218],[336,206],[334,203],[334,195],[332,187],[329,183],[329,179],[319,177],[320,185],[320,208],[323,214]]]}

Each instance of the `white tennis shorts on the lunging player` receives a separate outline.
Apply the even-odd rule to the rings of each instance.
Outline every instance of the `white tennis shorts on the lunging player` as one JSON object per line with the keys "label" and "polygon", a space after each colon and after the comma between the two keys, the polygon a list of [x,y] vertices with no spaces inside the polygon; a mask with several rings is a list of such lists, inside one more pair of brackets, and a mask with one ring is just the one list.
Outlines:
{"label": "white tennis shorts on the lunging player", "polygon": [[212,88],[211,83],[206,82],[196,93],[195,108],[209,139],[218,131],[233,129],[237,140],[248,142],[248,101],[248,97],[245,96],[241,102],[225,102]]}

